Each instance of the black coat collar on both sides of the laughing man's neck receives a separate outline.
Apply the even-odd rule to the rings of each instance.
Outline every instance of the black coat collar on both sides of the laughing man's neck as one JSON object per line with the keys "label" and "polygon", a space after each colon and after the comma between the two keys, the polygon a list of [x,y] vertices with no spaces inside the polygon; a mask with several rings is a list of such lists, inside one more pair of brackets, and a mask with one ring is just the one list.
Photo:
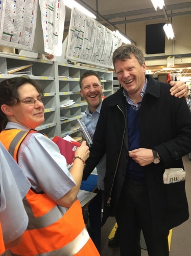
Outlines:
{"label": "black coat collar on both sides of the laughing man's neck", "polygon": [[[145,92],[146,94],[151,94],[154,97],[159,97],[160,96],[160,84],[158,81],[156,81],[151,75],[146,75],[148,79],[148,85],[147,89]],[[123,95],[123,90],[124,88],[118,89],[114,94],[113,97],[109,103],[109,106],[124,106],[126,103],[125,96]]]}

